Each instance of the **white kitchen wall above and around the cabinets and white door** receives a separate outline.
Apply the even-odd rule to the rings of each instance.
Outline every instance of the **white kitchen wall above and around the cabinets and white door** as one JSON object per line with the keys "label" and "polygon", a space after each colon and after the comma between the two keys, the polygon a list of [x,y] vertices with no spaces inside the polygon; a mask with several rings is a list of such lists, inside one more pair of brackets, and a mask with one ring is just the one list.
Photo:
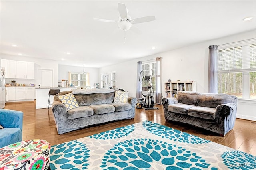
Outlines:
{"label": "white kitchen wall above and around the cabinets and white door", "polygon": [[[1,54],[2,59],[16,60],[16,61],[29,61],[35,63],[35,77],[36,77],[36,68],[50,68],[54,69],[54,86],[58,85],[58,62],[54,60],[38,59],[33,57],[24,57],[19,55],[6,55]],[[12,69],[10,66],[9,69]],[[10,83],[11,79],[6,79],[6,83]],[[36,79],[16,79],[16,83],[25,83],[25,84],[36,84]]]}

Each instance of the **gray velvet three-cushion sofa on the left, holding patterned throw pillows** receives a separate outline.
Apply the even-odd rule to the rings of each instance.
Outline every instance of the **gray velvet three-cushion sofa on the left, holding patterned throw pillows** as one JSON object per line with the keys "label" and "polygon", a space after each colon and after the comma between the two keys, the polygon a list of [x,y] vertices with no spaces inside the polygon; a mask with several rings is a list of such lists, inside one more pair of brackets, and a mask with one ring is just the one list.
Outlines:
{"label": "gray velvet three-cushion sofa on the left, holding patterned throw pillows", "polygon": [[[72,93],[79,107],[67,111],[58,98],[59,95]],[[54,96],[52,112],[58,134],[84,128],[90,125],[121,119],[133,119],[137,99],[128,97],[128,103],[113,103],[114,89],[72,89]]]}

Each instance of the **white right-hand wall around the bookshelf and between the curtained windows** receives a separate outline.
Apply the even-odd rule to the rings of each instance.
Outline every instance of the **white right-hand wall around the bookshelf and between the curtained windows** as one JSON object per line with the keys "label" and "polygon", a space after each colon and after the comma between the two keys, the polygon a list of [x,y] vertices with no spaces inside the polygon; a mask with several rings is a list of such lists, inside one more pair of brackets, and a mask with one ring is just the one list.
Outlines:
{"label": "white right-hand wall around the bookshelf and between the curtained windows", "polygon": [[[125,89],[129,91],[130,96],[136,97],[137,62],[162,57],[163,95],[165,94],[164,82],[168,81],[168,79],[171,79],[172,81],[176,81],[178,79],[180,81],[186,81],[187,79],[196,81],[197,91],[201,93],[208,93],[208,47],[210,45],[222,45],[251,38],[256,38],[255,30],[215,40],[209,40],[207,42],[182,47],[172,51],[166,51],[125,63],[103,67],[100,69],[100,73],[116,71],[116,87]],[[252,101],[252,103],[255,106],[256,102]],[[240,102],[239,100],[238,106],[246,109],[238,109],[238,115],[246,115],[246,117],[251,117],[251,120],[256,120],[256,109],[254,106],[249,105],[248,107],[248,105],[244,103],[244,100],[243,102]],[[244,117],[244,119],[246,118]]]}

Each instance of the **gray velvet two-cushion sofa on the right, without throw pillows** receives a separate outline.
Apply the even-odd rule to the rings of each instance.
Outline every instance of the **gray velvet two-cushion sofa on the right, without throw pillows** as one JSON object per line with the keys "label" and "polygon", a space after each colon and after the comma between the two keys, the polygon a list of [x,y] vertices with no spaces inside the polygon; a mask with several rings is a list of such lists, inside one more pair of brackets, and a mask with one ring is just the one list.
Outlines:
{"label": "gray velvet two-cushion sofa on the right, without throw pillows", "polygon": [[188,123],[225,136],[234,127],[237,97],[226,94],[179,92],[163,98],[166,120]]}

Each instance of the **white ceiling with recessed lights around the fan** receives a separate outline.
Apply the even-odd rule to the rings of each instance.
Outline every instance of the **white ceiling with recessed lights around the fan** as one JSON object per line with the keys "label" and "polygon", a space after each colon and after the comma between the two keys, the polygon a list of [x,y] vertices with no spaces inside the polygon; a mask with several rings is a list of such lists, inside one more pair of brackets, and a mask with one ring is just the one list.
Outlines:
{"label": "white ceiling with recessed lights around the fan", "polygon": [[[124,31],[117,23],[93,20],[118,20],[118,2],[126,4],[132,19],[156,16],[156,20],[133,24],[142,34],[128,30],[124,43]],[[1,0],[0,15],[1,53],[85,67],[104,67],[256,29],[255,0]],[[243,21],[247,16],[254,18]]]}

